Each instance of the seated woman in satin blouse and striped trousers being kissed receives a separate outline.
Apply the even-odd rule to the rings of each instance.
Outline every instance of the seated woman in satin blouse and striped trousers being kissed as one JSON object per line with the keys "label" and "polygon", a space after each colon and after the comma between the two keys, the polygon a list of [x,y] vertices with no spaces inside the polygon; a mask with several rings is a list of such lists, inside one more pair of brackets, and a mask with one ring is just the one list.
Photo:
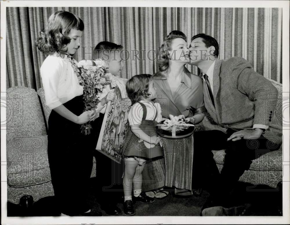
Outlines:
{"label": "seated woman in satin blouse and striped trousers being kissed", "polygon": [[[184,115],[186,121],[198,124],[204,118],[202,80],[185,67],[189,62],[186,42],[183,32],[170,32],[160,48],[159,72],[153,75],[153,81],[162,117]],[[164,141],[165,186],[175,187],[177,195],[191,195],[193,135]],[[165,197],[166,194],[164,190],[157,190],[155,197]]]}

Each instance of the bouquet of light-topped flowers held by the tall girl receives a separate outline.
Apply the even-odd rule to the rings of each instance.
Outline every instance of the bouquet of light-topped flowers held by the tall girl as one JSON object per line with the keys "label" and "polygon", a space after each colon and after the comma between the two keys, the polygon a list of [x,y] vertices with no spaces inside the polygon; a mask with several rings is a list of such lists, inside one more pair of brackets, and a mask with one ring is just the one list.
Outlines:
{"label": "bouquet of light-topped flowers held by the tall girl", "polygon": [[[105,69],[108,65],[103,60],[81,60],[77,64],[78,79],[84,88],[84,111],[92,110],[100,102],[100,93],[106,85],[114,88],[116,86],[115,76],[111,73],[106,73]],[[90,121],[81,125],[81,132],[85,135],[90,134]]]}

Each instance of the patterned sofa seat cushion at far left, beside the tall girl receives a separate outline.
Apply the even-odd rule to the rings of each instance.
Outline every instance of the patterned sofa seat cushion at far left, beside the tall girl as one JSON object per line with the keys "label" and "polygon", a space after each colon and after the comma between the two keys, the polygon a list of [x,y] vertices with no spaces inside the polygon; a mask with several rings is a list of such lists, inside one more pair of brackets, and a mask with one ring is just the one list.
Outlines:
{"label": "patterned sofa seat cushion at far left, beside the tall girl", "polygon": [[47,135],[23,137],[21,133],[8,133],[6,149],[9,186],[24,187],[51,180]]}

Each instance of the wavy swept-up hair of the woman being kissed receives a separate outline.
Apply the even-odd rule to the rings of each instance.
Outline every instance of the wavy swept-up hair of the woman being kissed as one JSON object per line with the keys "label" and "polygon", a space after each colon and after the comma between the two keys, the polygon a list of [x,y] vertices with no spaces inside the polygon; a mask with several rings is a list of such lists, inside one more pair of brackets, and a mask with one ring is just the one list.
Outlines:
{"label": "wavy swept-up hair of the woman being kissed", "polygon": [[169,51],[172,50],[171,43],[175,38],[182,38],[185,42],[187,42],[186,35],[179,30],[173,30],[169,33],[169,35],[167,35],[159,50],[158,66],[161,72],[168,69],[170,59]]}

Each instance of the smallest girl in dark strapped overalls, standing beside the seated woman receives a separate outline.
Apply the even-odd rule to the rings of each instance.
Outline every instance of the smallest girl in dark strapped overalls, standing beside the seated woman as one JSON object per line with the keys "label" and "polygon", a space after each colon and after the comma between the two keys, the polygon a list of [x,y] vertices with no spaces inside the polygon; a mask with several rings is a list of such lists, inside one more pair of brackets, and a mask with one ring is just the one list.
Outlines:
{"label": "smallest girl in dark strapped overalls, standing beside the seated woman", "polygon": [[[161,107],[154,103],[156,90],[151,75],[141,74],[126,83],[128,97],[132,107],[128,115],[130,128],[124,140],[125,171],[123,178],[124,214],[134,215],[134,202],[149,204],[154,199],[141,191],[142,171],[145,163],[163,157],[160,137],[155,132],[155,125],[162,120]],[[134,195],[132,198],[132,187]]]}

